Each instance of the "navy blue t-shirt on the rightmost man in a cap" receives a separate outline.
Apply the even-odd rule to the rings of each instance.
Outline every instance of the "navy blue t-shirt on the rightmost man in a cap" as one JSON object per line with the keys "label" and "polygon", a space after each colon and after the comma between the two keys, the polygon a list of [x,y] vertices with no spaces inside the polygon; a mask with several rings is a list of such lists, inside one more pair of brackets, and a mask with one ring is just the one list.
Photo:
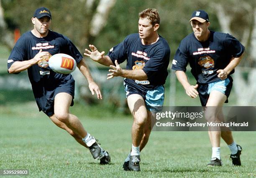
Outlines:
{"label": "navy blue t-shirt on the rightmost man in a cap", "polygon": [[[224,69],[232,57],[243,54],[244,46],[228,33],[210,31],[207,41],[198,41],[194,33],[186,36],[177,49],[172,69],[186,72],[187,64],[198,83],[218,81],[219,69]],[[233,74],[234,70],[230,72]]]}

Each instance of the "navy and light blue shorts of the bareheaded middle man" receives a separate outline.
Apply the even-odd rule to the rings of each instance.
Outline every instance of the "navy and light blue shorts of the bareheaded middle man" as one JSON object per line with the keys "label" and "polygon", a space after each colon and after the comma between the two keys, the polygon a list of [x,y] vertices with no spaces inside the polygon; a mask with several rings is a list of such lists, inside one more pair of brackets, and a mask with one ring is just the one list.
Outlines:
{"label": "navy and light blue shorts of the bareheaded middle man", "polygon": [[132,87],[124,82],[126,98],[131,94],[139,94],[145,101],[145,106],[148,111],[159,112],[164,105],[164,86],[158,86],[155,89],[143,91]]}

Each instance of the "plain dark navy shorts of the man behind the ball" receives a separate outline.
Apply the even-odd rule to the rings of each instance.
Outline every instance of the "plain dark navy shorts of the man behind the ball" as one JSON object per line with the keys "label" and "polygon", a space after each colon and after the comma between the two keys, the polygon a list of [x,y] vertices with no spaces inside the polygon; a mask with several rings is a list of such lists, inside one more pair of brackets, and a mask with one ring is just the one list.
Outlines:
{"label": "plain dark navy shorts of the man behind the ball", "polygon": [[74,79],[63,80],[55,87],[55,89],[46,91],[44,96],[36,98],[36,103],[38,105],[39,111],[43,111],[47,116],[52,116],[54,114],[54,98],[58,93],[68,93],[72,96],[72,102],[70,106],[74,105]]}

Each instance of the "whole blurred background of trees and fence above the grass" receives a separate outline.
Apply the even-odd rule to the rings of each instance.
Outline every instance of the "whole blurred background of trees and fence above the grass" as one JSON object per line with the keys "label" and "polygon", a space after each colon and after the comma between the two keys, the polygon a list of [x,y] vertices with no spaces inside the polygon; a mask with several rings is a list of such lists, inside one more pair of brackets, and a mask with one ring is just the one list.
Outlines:
{"label": "whole blurred background of trees and fence above the grass", "polygon": [[[33,28],[31,18],[36,8],[51,10],[51,30],[68,36],[84,53],[89,44],[99,51],[109,51],[130,33],[138,32],[138,13],[146,8],[159,10],[159,34],[171,48],[170,66],[180,41],[192,33],[188,22],[193,11],[202,9],[210,17],[210,30],[230,33],[246,46],[246,54],[233,74],[234,85],[229,105],[256,103],[256,1],[255,0],[0,0],[0,107],[1,105],[33,101],[26,71],[19,75],[7,73],[7,58],[13,48],[14,31],[20,34]],[[87,83],[78,70],[73,73],[77,83],[76,101],[100,104],[107,109],[125,112],[126,101],[120,77],[107,80],[108,68],[84,58],[95,81],[100,84],[103,102],[90,95]],[[125,64],[123,64],[125,66]],[[170,70],[169,70],[170,71]],[[191,84],[195,80],[187,72]],[[199,99],[187,97],[173,72],[165,84],[165,105],[198,106]],[[116,109],[119,108],[119,109]]]}

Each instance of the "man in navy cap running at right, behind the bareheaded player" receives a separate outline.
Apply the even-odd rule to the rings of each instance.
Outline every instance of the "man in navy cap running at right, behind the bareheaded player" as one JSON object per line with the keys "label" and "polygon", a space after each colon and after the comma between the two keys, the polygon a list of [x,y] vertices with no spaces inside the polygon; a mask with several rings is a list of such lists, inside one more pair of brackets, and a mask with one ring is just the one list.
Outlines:
{"label": "man in navy cap running at right, behind the bareheaded player", "polygon": [[[228,33],[210,31],[208,14],[204,10],[196,10],[189,20],[194,33],[185,37],[177,49],[172,69],[186,94],[189,97],[200,97],[205,108],[207,122],[224,122],[222,106],[228,102],[232,88],[232,77],[235,67],[242,59],[244,46]],[[197,80],[196,85],[189,84],[186,67],[191,66],[191,72]],[[206,106],[206,107],[205,107]],[[207,166],[221,166],[220,137],[230,148],[233,165],[241,165],[242,148],[236,145],[230,130],[220,128],[208,131],[212,144],[212,159]]]}

